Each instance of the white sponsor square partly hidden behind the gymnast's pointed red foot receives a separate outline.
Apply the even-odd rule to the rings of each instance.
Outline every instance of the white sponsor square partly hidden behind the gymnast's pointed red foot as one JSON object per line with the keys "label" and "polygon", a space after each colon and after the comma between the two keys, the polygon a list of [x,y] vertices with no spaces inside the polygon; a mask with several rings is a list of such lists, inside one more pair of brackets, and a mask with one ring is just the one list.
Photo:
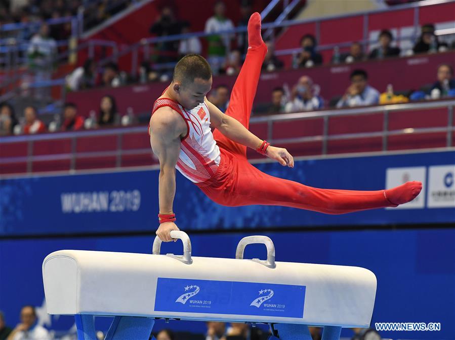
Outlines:
{"label": "white sponsor square partly hidden behind the gymnast's pointed red foot", "polygon": [[408,168],[388,168],[386,171],[386,188],[401,185],[408,181],[417,180],[423,183],[422,191],[419,196],[411,202],[400,204],[396,208],[386,209],[423,209],[425,208],[425,177],[427,173],[426,167],[408,167]]}

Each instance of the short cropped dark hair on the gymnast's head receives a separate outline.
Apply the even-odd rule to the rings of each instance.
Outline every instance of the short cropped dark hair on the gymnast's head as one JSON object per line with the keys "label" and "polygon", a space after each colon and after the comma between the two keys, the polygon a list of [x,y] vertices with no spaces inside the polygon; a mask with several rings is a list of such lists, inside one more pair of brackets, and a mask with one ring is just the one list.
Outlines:
{"label": "short cropped dark hair on the gymnast's head", "polygon": [[174,67],[172,81],[179,81],[182,85],[192,84],[196,78],[209,80],[212,69],[204,57],[198,54],[188,54],[179,60]]}

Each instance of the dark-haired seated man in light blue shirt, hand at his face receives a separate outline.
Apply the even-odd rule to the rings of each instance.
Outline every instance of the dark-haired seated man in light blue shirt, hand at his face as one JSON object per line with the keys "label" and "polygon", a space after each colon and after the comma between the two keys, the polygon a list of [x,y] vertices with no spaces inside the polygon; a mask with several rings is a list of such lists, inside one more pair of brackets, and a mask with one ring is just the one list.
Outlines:
{"label": "dark-haired seated man in light blue shirt, hand at his face", "polygon": [[379,92],[368,85],[368,74],[362,69],[352,71],[351,85],[337,103],[337,107],[375,105],[379,103]]}

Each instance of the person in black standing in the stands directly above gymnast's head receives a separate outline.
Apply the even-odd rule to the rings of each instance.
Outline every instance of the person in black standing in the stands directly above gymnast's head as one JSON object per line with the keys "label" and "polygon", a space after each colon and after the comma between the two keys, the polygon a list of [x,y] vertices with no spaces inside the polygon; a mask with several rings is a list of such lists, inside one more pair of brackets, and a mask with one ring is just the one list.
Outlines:
{"label": "person in black standing in the stands directly above gymnast's head", "polygon": [[[174,11],[170,6],[164,6],[161,9],[158,20],[150,26],[149,32],[158,36],[168,36],[180,33],[179,22],[176,20]],[[157,50],[160,53],[156,62],[163,63],[175,61],[177,57],[175,51],[177,51],[178,47],[179,42],[176,40],[158,43]]]}

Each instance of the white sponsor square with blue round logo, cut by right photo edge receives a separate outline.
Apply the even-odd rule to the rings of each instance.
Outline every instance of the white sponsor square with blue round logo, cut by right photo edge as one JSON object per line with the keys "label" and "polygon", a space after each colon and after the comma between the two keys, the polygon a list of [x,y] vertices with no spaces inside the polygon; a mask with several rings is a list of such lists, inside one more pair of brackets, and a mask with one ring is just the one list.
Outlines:
{"label": "white sponsor square with blue round logo, cut by right photo edge", "polygon": [[428,208],[455,207],[455,165],[429,168]]}

